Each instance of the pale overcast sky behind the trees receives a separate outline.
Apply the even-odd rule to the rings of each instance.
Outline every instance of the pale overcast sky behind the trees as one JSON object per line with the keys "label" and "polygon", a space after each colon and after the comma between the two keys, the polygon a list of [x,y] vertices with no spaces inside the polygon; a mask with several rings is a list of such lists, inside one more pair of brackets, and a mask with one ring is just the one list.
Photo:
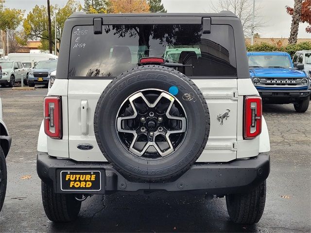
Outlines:
{"label": "pale overcast sky behind the trees", "polygon": [[[83,0],[79,0],[83,4]],[[168,12],[213,12],[211,5],[217,5],[220,0],[162,0]],[[253,2],[252,0],[249,0]],[[51,4],[64,6],[67,0],[50,0]],[[46,0],[6,0],[5,6],[26,10],[26,14],[35,5],[45,5]],[[285,6],[294,6],[294,0],[255,0],[259,7],[258,16],[264,21],[264,27],[259,31],[261,37],[289,37],[292,17],[286,13]],[[306,33],[307,23],[299,25],[298,38],[311,38],[311,33]],[[256,33],[255,32],[255,33]]]}

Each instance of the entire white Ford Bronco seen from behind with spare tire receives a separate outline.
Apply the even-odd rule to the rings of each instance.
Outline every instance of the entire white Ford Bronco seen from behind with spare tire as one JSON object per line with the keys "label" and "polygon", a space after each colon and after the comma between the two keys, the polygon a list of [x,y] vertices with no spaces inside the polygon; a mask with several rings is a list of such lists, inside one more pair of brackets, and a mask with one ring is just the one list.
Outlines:
{"label": "entire white Ford Bronco seen from behind with spare tire", "polygon": [[258,222],[270,143],[241,21],[71,15],[37,150],[55,222],[76,218],[89,195],[155,191],[225,197],[232,221]]}

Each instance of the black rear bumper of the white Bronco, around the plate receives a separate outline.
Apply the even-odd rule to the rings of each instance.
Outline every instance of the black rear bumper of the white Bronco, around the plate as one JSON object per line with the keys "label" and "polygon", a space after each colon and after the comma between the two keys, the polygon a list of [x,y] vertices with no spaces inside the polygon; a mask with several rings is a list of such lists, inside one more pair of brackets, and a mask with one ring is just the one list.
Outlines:
{"label": "black rear bumper of the white Bronco, around the plate", "polygon": [[[100,191],[62,191],[61,171],[100,171]],[[243,193],[255,188],[267,179],[270,172],[270,156],[266,153],[248,160],[234,160],[228,163],[197,163],[173,182],[135,183],[126,180],[108,163],[82,163],[70,159],[56,159],[45,152],[37,154],[37,173],[40,179],[51,186],[56,193],[111,194],[118,191],[199,191],[202,193],[226,195]]]}

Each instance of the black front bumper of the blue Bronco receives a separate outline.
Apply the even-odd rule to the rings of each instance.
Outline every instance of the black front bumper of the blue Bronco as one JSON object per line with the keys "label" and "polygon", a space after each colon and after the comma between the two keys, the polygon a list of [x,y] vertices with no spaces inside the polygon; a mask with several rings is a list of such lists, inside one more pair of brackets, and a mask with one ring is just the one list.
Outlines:
{"label": "black front bumper of the blue Bronco", "polygon": [[263,103],[297,103],[308,99],[311,90],[258,90]]}

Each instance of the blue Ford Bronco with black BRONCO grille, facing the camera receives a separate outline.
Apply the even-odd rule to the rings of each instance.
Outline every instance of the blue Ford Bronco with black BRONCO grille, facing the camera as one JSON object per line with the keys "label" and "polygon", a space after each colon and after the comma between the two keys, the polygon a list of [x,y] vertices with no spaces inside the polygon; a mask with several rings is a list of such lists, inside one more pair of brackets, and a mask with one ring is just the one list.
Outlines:
{"label": "blue Ford Bronco with black BRONCO grille, facing the camera", "polygon": [[303,64],[287,52],[247,52],[249,72],[263,103],[294,103],[298,113],[309,107],[311,93]]}

